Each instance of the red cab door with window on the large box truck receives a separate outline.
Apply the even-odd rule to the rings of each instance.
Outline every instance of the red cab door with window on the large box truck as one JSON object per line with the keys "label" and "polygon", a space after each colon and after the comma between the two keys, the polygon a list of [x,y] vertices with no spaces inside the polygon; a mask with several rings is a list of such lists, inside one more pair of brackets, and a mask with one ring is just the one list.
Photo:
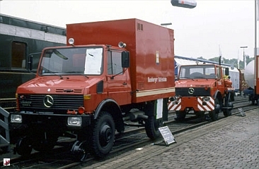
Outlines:
{"label": "red cab door with window on the large box truck", "polygon": [[118,104],[129,104],[130,80],[128,71],[122,68],[122,51],[108,51],[108,96]]}

